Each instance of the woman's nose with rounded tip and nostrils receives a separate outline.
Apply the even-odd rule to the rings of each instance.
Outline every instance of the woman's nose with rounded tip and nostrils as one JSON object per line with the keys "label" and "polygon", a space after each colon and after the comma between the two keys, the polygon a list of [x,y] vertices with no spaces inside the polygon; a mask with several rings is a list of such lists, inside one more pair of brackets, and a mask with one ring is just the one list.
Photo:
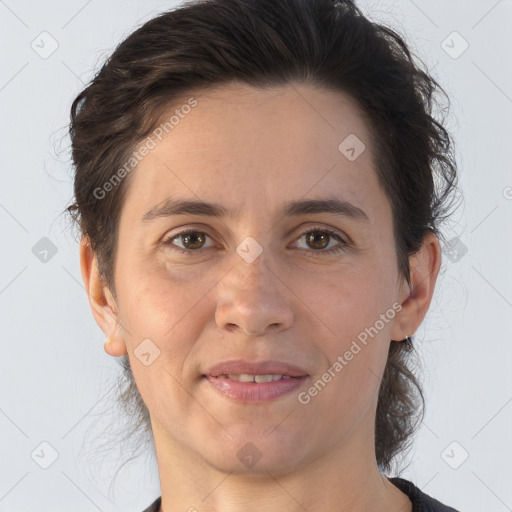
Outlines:
{"label": "woman's nose with rounded tip and nostrils", "polygon": [[264,336],[293,323],[293,293],[263,255],[253,262],[240,259],[217,285],[217,325],[227,331]]}

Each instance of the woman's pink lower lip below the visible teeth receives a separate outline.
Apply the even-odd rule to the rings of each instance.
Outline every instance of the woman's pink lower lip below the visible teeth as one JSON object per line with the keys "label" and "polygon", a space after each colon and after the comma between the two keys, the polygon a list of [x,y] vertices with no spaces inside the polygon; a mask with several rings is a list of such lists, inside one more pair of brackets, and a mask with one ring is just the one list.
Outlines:
{"label": "woman's pink lower lip below the visible teeth", "polygon": [[221,377],[206,377],[206,380],[223,395],[241,402],[268,402],[296,391],[307,376],[291,377],[271,382],[239,382]]}

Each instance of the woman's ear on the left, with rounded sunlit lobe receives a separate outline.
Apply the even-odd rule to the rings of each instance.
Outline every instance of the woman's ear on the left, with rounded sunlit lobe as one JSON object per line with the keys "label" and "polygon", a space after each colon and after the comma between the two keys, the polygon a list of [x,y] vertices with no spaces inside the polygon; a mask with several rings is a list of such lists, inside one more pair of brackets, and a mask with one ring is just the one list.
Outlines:
{"label": "woman's ear on the left, with rounded sunlit lobe", "polygon": [[80,268],[96,323],[109,340],[109,343],[104,344],[105,352],[116,357],[127,354],[115,299],[100,275],[96,254],[87,236],[83,236],[80,241]]}

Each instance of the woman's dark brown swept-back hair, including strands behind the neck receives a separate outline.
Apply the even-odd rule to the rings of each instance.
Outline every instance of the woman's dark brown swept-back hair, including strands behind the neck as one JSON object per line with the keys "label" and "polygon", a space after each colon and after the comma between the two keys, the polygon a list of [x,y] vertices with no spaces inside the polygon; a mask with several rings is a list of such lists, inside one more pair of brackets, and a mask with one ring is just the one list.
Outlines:
{"label": "woman's dark brown swept-back hair, including strands behind the neck", "polygon": [[[90,240],[114,297],[118,219],[131,175],[101,199],[95,190],[178,98],[233,82],[260,88],[303,83],[355,100],[392,207],[400,275],[409,280],[409,257],[426,233],[442,238],[439,225],[456,189],[452,139],[433,112],[437,93],[448,99],[442,88],[397,32],[371,22],[351,1],[200,0],[133,32],[71,108],[75,202],[67,210]],[[375,425],[384,471],[409,446],[424,412],[413,356],[411,340],[391,342]],[[122,364],[127,387],[121,404],[135,416],[134,431],[149,431],[126,356]]]}

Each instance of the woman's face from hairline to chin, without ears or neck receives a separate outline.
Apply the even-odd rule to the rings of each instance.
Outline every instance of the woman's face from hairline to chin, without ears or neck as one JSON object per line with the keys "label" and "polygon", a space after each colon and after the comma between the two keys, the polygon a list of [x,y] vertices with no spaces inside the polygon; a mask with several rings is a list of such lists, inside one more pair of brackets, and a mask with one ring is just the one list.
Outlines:
{"label": "woman's face from hairline to chin, without ears or neck", "polygon": [[[229,85],[194,99],[176,105],[179,123],[133,171],[119,224],[111,334],[125,344],[157,446],[273,474],[373,450],[390,340],[412,332],[362,118],[347,96],[304,85]],[[219,211],[174,211],[188,201]],[[238,360],[305,377],[273,398],[283,382],[220,391],[211,368]]]}

